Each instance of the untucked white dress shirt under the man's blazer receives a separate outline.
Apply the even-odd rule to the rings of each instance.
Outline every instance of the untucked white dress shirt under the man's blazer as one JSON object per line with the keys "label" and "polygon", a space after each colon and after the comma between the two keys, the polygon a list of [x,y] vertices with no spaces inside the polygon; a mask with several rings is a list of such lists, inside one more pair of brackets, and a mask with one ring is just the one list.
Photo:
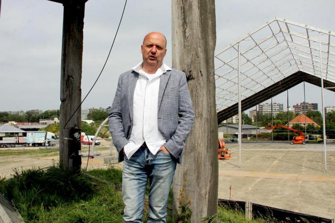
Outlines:
{"label": "untucked white dress shirt under the man's blazer", "polygon": [[133,128],[129,143],[124,147],[128,159],[145,142],[153,155],[166,143],[162,133],[158,130],[158,91],[160,76],[171,70],[166,64],[156,71],[155,74],[148,74],[142,70],[142,63],[134,68],[138,75],[134,91],[134,112]]}

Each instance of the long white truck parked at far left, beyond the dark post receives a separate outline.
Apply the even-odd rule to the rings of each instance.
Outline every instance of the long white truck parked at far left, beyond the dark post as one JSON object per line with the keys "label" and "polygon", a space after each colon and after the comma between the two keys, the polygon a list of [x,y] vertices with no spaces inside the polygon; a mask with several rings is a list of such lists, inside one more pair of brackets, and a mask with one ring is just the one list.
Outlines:
{"label": "long white truck parked at far left, beyond the dark post", "polygon": [[49,131],[27,131],[27,136],[0,137],[0,148],[22,146],[47,146],[56,135]]}

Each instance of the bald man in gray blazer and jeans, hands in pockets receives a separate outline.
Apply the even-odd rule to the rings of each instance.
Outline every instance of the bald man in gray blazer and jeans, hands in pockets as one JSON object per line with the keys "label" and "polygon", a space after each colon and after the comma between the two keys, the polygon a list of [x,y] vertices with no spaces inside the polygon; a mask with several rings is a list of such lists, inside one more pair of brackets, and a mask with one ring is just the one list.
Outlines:
{"label": "bald man in gray blazer and jeans, hands in pockets", "polygon": [[194,120],[183,72],[163,63],[166,37],[151,32],[141,46],[143,62],[120,75],[109,113],[109,130],[124,160],[122,199],[125,222],[141,223],[149,179],[148,223],[166,222],[176,163]]}

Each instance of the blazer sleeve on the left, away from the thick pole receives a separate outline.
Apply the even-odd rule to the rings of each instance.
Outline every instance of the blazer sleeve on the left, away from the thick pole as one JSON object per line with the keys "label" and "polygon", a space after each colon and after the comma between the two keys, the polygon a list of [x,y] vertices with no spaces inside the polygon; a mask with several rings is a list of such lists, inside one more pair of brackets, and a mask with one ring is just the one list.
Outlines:
{"label": "blazer sleeve on the left, away from the thick pole", "polygon": [[108,115],[109,131],[112,135],[113,143],[119,153],[125,147],[125,145],[128,144],[128,139],[125,136],[122,123],[122,77],[123,75],[120,75],[113,104]]}

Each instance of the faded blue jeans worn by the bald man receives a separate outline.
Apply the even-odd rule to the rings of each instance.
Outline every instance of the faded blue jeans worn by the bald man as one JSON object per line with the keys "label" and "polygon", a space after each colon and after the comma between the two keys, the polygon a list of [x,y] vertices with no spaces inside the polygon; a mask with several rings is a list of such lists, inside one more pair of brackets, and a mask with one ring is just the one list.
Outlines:
{"label": "faded blue jeans worn by the bald man", "polygon": [[148,223],[165,223],[167,198],[172,184],[176,160],[162,151],[156,155],[141,146],[134,155],[125,156],[122,174],[123,220],[142,223],[144,196],[149,179]]}

